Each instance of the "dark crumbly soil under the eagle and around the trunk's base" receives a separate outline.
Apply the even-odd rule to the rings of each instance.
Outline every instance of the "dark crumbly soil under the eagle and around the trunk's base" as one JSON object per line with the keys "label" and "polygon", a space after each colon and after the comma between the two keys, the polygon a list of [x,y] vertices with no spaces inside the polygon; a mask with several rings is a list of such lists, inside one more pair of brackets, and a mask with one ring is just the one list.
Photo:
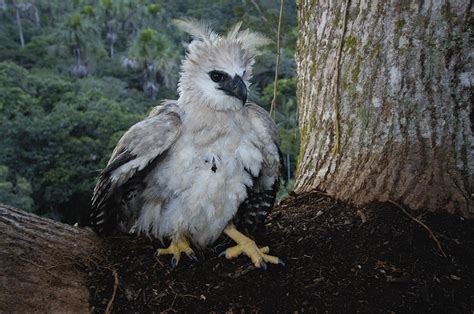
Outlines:
{"label": "dark crumbly soil under the eagle and around the trunk's base", "polygon": [[[439,239],[392,204],[366,207],[322,194],[293,196],[255,237],[286,267],[254,268],[247,257],[217,257],[222,248],[154,258],[160,243],[114,237],[105,261],[89,270],[91,304],[103,312],[118,285],[113,312],[444,312],[474,311],[474,221],[412,212]],[[217,252],[216,252],[217,251]]]}

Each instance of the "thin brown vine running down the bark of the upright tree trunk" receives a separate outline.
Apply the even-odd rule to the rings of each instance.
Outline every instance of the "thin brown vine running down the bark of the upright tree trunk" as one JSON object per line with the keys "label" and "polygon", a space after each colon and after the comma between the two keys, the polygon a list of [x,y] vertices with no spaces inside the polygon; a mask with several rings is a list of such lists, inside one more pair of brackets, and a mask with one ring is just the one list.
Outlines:
{"label": "thin brown vine running down the bark of the upright tree trunk", "polygon": [[344,46],[344,37],[346,36],[346,29],[347,29],[347,16],[349,13],[349,5],[351,0],[346,0],[346,6],[344,8],[344,19],[342,21],[342,35],[341,40],[339,41],[339,47],[337,48],[337,56],[336,56],[336,75],[334,79],[334,133],[335,133],[335,143],[334,143],[334,154],[339,154],[339,146],[341,143],[341,135],[340,135],[340,122],[339,122],[339,102],[340,102],[340,94],[339,94],[339,85],[340,85],[340,77],[341,77],[341,55],[342,55],[342,47]]}

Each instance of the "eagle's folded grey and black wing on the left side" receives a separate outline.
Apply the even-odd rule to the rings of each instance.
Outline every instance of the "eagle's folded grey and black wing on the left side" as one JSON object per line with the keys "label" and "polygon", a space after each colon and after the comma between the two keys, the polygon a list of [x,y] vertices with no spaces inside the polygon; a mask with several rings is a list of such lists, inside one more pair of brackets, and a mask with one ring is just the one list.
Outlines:
{"label": "eagle's folded grey and black wing on the left side", "polygon": [[159,163],[180,135],[181,111],[172,102],[156,107],[119,140],[92,196],[91,226],[97,231],[129,231],[142,178]]}

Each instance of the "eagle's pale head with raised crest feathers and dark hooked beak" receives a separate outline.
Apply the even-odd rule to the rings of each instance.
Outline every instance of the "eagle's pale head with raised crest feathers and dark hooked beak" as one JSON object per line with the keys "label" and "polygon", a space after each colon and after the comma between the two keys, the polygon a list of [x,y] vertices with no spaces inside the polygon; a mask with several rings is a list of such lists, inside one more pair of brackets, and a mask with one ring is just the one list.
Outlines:
{"label": "eagle's pale head with raised crest feathers and dark hooked beak", "polygon": [[226,36],[195,20],[178,20],[192,35],[181,67],[180,98],[215,110],[237,110],[247,101],[249,80],[258,48],[269,43],[263,35],[235,25]]}

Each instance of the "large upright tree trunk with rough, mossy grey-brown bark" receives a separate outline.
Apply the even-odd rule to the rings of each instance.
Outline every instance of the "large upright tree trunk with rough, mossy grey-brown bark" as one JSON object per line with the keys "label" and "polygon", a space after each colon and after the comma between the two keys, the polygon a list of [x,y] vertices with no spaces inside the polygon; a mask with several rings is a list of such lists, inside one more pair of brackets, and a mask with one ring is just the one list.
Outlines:
{"label": "large upright tree trunk with rough, mossy grey-brown bark", "polygon": [[297,192],[474,214],[471,11],[300,1]]}

